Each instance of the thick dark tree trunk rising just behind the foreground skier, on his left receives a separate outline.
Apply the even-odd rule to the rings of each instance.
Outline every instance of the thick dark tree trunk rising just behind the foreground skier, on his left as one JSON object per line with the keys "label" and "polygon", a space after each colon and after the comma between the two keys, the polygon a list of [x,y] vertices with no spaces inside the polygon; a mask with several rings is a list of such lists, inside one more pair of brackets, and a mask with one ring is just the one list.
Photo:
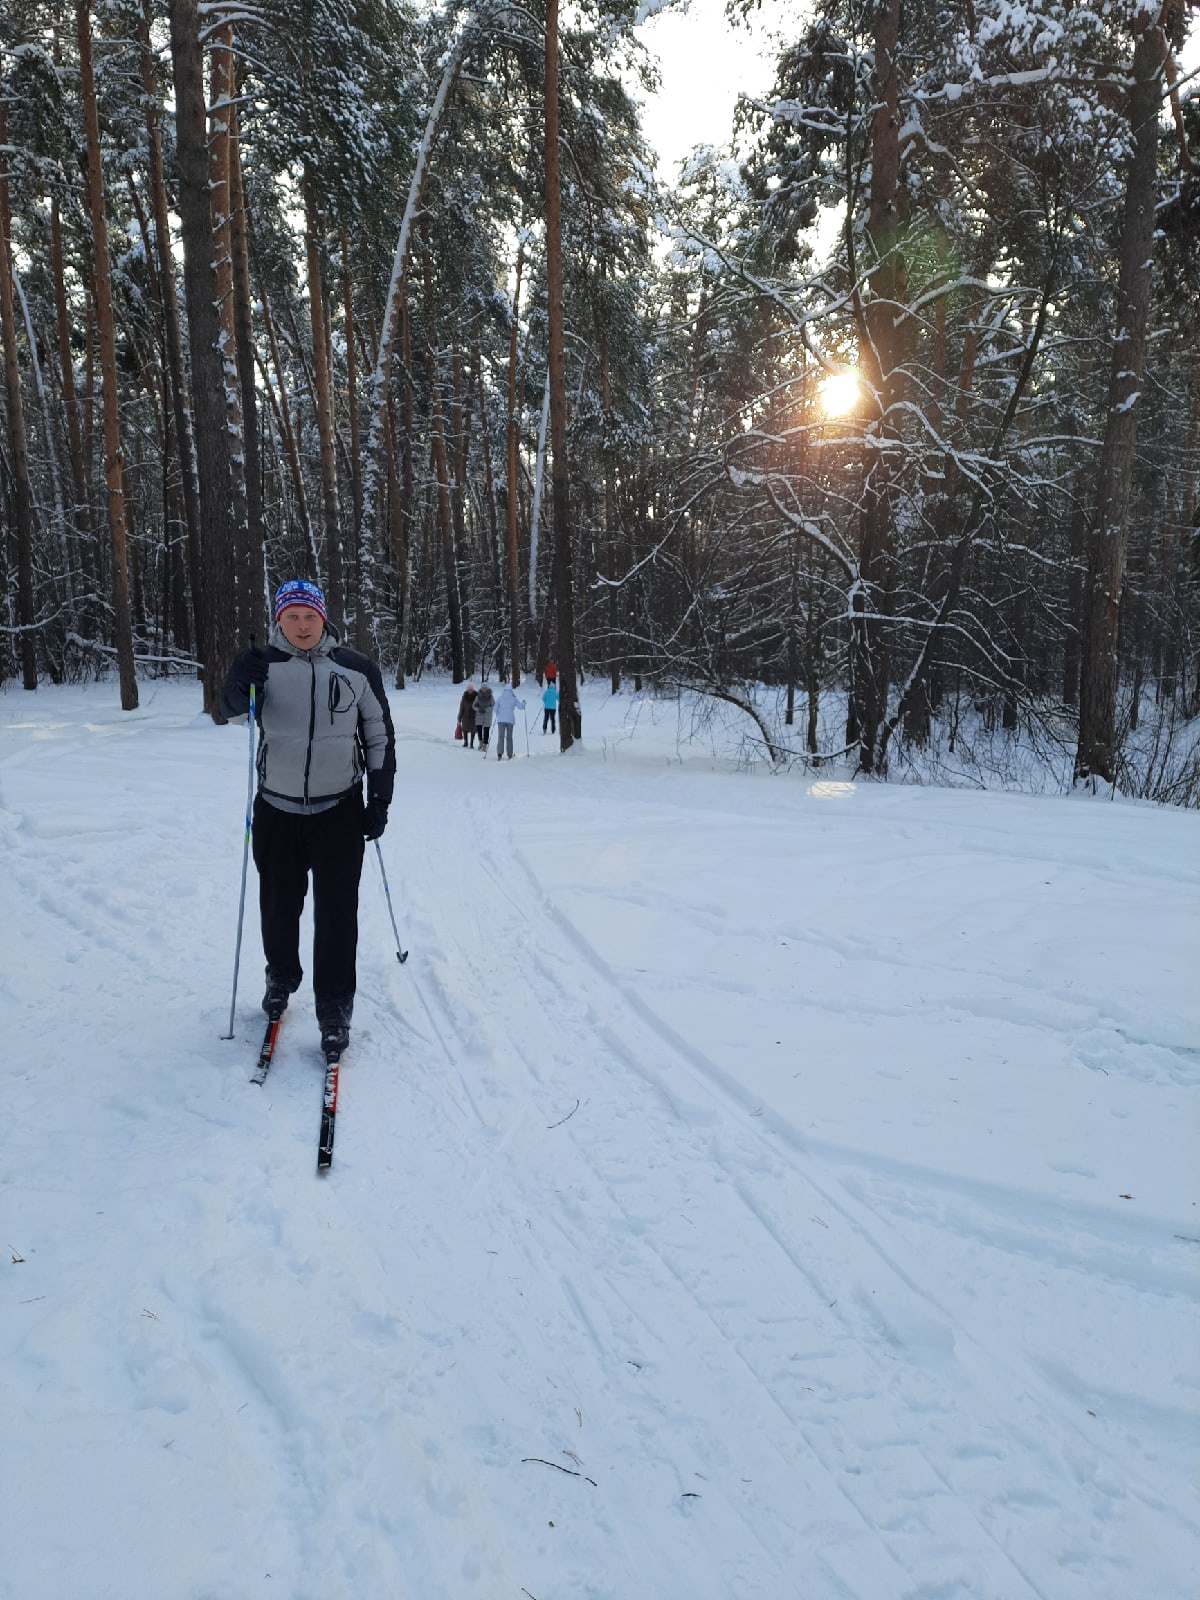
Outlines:
{"label": "thick dark tree trunk rising just behind the foreground skier, on his left", "polygon": [[170,0],[174,69],[179,218],[184,242],[184,299],[192,354],[195,461],[203,526],[203,619],[200,640],[205,710],[221,722],[221,683],[237,651],[234,552],[237,523],[226,429],[226,374],[216,309],[213,218],[208,197],[203,56],[197,0]]}

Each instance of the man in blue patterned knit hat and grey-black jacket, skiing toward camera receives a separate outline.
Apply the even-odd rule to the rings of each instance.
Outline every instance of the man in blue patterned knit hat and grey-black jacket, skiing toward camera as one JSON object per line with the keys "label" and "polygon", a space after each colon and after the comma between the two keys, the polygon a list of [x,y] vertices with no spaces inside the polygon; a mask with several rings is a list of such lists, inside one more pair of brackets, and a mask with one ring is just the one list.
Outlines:
{"label": "man in blue patterned knit hat and grey-black jacket, skiing toward camera", "polygon": [[[304,971],[299,920],[312,872],[312,989],[322,1050],[338,1061],[350,1037],[358,880],[365,840],[387,826],[395,734],[374,661],[339,643],[317,584],[293,578],[275,594],[266,646],[235,658],[221,691],[226,717],[259,720],[253,813],[270,1019]],[[366,774],[366,805],[362,778]]]}

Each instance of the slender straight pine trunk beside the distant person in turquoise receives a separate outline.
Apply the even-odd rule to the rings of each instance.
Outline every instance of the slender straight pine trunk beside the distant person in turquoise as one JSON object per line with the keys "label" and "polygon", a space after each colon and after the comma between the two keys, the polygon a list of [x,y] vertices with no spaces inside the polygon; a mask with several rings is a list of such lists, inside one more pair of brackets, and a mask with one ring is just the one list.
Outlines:
{"label": "slender straight pine trunk beside the distant person in turquoise", "polygon": [[554,517],[554,608],[558,629],[558,749],[582,734],[574,662],[571,584],[571,480],[566,470],[566,349],[563,328],[563,205],[558,176],[558,0],[546,5],[546,291],[550,346],[550,467]]}

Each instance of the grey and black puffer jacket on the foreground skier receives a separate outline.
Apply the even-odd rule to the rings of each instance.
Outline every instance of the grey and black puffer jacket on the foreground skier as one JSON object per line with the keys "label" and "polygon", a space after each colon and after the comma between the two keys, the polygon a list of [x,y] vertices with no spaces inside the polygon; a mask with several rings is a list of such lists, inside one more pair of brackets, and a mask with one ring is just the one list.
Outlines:
{"label": "grey and black puffer jacket on the foreground skier", "polygon": [[[338,642],[326,622],[312,650],[296,650],[278,627],[270,630],[270,659],[259,722],[258,787],[285,811],[325,810],[357,789],[363,773],[370,797],[390,805],[395,733],[379,667]],[[250,710],[242,658],[221,691],[226,717]]]}

